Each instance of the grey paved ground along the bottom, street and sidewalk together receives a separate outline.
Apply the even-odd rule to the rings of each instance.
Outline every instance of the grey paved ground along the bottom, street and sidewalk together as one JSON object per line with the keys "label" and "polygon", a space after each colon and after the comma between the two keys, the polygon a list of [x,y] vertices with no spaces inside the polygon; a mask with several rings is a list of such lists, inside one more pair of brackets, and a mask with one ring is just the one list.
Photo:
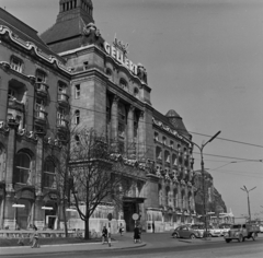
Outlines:
{"label": "grey paved ground along the bottom, street and sidewalk together", "polygon": [[0,257],[118,257],[118,258],[156,258],[156,257],[194,257],[194,258],[260,258],[263,256],[263,235],[244,243],[232,242],[226,244],[222,237],[210,241],[203,239],[174,239],[170,234],[144,234],[142,244],[134,244],[132,234],[115,236],[112,247],[101,244],[69,245],[69,246],[42,246],[39,249],[28,247],[0,248]]}

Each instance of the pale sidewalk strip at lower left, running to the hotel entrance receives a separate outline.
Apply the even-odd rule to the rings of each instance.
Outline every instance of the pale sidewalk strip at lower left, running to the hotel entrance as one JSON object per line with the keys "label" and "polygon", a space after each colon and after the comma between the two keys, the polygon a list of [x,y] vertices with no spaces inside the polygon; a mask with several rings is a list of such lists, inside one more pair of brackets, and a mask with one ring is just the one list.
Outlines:
{"label": "pale sidewalk strip at lower left, running to the hotel entrance", "polygon": [[[70,245],[45,245],[41,248],[31,248],[28,246],[19,247],[0,247],[0,257],[8,255],[20,254],[39,254],[39,253],[75,253],[75,251],[108,251],[110,249],[129,249],[146,246],[146,243],[134,244],[133,234],[125,234],[124,236],[113,235],[115,242],[112,242],[111,247],[102,243],[88,244],[70,244]],[[39,241],[41,244],[41,241]]]}

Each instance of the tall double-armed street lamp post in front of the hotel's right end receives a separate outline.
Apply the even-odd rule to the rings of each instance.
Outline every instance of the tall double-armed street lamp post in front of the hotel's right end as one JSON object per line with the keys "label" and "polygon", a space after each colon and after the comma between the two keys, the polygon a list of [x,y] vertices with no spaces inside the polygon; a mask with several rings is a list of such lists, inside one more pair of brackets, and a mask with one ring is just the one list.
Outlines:
{"label": "tall double-armed street lamp post in front of the hotel's right end", "polygon": [[206,141],[205,143],[202,143],[201,146],[181,134],[181,137],[184,140],[190,142],[192,145],[197,146],[199,149],[199,152],[201,152],[201,173],[202,173],[202,178],[203,178],[203,195],[204,195],[203,196],[203,201],[204,201],[203,206],[204,206],[204,218],[205,218],[205,237],[207,236],[207,220],[206,220],[206,196],[205,196],[205,163],[204,163],[204,157],[203,157],[203,150],[204,150],[205,145],[208,144],[209,142],[211,142],[215,138],[217,138],[220,132],[221,131],[218,131],[208,141]]}

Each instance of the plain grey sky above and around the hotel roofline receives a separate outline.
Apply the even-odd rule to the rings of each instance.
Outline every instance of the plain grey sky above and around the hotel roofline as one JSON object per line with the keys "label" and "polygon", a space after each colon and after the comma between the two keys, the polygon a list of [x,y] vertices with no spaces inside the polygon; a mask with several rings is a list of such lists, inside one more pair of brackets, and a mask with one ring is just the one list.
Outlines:
{"label": "plain grey sky above and around the hotel roofline", "polygon": [[[0,0],[0,7],[39,33],[50,27],[59,0]],[[93,0],[102,36],[129,44],[142,63],[151,103],[174,109],[205,168],[236,218],[263,220],[263,0]],[[194,169],[201,168],[194,150]]]}

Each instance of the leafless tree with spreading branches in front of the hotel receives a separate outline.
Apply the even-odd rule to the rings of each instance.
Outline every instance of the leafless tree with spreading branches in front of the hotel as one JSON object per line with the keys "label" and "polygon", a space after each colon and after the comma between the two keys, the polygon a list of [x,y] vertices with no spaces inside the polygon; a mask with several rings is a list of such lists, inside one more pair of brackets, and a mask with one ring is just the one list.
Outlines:
{"label": "leafless tree with spreading branches in front of the hotel", "polygon": [[[64,197],[65,223],[67,202],[71,202],[84,221],[84,238],[88,239],[91,215],[101,203],[122,207],[124,195],[136,184],[138,164],[134,161],[132,169],[124,169],[126,165],[123,155],[116,153],[116,144],[108,144],[103,136],[85,128],[70,132],[70,142],[57,159],[60,161],[57,177]],[[65,228],[67,231],[67,223]]]}

